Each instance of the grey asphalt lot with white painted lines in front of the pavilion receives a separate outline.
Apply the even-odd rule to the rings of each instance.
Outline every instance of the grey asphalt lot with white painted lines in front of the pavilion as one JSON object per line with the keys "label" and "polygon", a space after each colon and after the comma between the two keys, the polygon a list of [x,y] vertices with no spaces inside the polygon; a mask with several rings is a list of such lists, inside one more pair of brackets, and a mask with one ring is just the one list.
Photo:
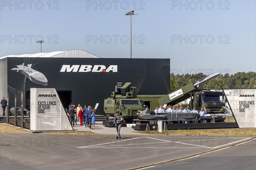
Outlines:
{"label": "grey asphalt lot with white painted lines in front of the pavilion", "polygon": [[[113,135],[0,133],[0,169],[129,169],[213,150],[252,137],[122,135],[118,140]],[[247,150],[241,148],[239,153],[241,164],[249,155],[255,158],[253,150],[247,155]],[[204,161],[214,164],[209,159]],[[201,169],[208,168],[202,164]]]}

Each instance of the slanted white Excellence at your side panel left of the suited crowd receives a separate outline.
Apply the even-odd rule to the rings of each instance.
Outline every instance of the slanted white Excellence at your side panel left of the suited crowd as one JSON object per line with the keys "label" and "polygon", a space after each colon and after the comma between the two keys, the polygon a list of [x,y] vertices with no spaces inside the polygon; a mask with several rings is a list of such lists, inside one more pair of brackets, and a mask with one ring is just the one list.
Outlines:
{"label": "slanted white Excellence at your side panel left of the suited crowd", "polygon": [[30,130],[73,130],[55,88],[30,88]]}

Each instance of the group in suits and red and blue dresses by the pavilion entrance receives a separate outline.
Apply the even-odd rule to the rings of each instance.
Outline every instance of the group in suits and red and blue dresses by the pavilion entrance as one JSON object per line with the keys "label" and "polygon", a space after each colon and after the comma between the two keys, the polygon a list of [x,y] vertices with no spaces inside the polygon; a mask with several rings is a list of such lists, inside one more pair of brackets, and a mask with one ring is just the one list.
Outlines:
{"label": "group in suits and red and blue dresses by the pavilion entrance", "polygon": [[91,105],[84,105],[84,108],[78,104],[71,105],[70,108],[67,110],[67,116],[69,117],[70,124],[73,127],[76,125],[85,125],[85,127],[89,127],[90,129],[95,129],[95,109],[92,109]]}

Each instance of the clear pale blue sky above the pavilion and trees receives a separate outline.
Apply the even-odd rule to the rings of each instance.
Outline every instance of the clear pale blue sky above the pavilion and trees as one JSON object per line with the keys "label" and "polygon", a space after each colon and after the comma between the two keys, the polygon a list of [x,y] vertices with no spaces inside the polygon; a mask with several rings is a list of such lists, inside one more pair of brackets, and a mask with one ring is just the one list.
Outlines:
{"label": "clear pale blue sky above the pavilion and trees", "polygon": [[256,1],[1,0],[0,56],[80,49],[169,58],[177,74],[256,71]]}

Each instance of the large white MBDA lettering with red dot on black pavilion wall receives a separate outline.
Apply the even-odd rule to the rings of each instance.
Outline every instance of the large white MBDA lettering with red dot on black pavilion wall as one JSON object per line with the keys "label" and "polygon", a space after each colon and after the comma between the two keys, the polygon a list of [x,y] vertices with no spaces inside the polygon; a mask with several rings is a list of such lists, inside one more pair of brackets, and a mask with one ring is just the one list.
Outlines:
{"label": "large white MBDA lettering with red dot on black pavilion wall", "polygon": [[117,65],[110,65],[107,69],[105,65],[62,65],[60,72],[117,72]]}

